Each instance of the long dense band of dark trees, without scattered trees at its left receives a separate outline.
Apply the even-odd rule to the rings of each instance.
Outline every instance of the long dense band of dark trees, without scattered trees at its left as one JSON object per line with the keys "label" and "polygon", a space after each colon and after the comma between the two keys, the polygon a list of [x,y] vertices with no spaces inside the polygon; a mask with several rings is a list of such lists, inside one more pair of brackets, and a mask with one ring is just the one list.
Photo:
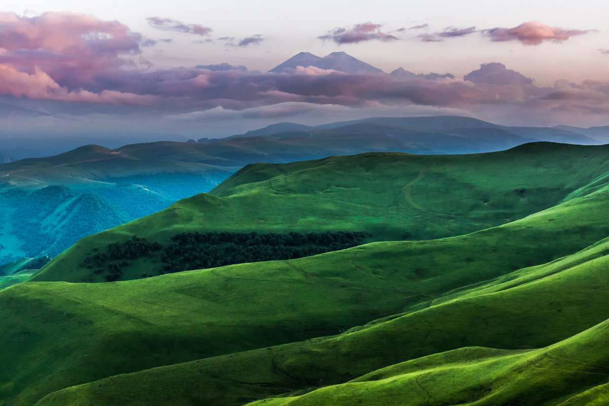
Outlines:
{"label": "long dense band of dark trees, without scattered trees at its left", "polygon": [[161,258],[166,273],[244,262],[294,259],[360,245],[370,234],[325,233],[181,233],[171,237]]}

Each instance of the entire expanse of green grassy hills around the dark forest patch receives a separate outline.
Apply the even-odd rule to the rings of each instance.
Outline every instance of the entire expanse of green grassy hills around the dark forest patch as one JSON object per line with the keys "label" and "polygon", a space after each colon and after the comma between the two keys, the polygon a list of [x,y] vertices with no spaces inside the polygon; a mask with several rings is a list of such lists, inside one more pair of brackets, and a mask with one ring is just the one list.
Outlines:
{"label": "entire expanse of green grassy hills around the dark forest patch", "polygon": [[[608,152],[247,166],[0,290],[0,404],[602,405]],[[151,253],[72,283],[135,234],[326,229],[376,242],[139,279]]]}

